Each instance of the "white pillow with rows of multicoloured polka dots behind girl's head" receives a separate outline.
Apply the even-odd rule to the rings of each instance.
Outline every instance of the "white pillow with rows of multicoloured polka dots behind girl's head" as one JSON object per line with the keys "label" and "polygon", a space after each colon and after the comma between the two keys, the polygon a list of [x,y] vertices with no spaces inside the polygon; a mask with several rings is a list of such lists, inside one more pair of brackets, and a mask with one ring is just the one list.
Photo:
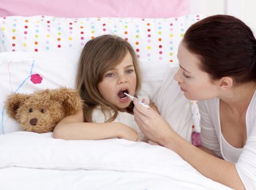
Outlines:
{"label": "white pillow with rows of multicoloured polka dots behind girl's head", "polygon": [[0,52],[81,50],[96,36],[116,34],[133,46],[139,59],[177,64],[179,42],[187,28],[201,18],[201,15],[166,19],[1,17]]}

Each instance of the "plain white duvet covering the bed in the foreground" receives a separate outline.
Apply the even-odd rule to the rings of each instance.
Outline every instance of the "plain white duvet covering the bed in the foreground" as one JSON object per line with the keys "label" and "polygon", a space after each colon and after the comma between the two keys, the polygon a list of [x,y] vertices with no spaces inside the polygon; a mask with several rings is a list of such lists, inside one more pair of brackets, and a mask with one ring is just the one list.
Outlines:
{"label": "plain white duvet covering the bed in the foreground", "polygon": [[229,189],[162,146],[0,135],[0,189]]}

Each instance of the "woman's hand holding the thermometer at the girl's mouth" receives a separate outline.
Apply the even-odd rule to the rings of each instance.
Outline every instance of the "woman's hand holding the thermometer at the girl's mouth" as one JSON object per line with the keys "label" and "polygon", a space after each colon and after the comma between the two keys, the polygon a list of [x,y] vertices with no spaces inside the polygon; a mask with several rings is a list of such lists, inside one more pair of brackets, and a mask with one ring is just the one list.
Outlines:
{"label": "woman's hand holding the thermometer at the girl's mouth", "polygon": [[173,130],[161,115],[151,107],[143,107],[137,99],[134,99],[133,103],[135,122],[141,131],[155,143],[164,145],[168,142]]}

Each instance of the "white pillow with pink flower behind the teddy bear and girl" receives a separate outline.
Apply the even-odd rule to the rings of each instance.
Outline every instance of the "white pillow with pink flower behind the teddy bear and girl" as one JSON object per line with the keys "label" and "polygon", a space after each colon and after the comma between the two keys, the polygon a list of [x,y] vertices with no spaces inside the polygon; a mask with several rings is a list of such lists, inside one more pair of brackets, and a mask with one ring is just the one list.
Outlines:
{"label": "white pillow with pink flower behind the teddy bear and girl", "polygon": [[[21,130],[5,113],[5,100],[11,93],[32,93],[58,87],[75,88],[80,51],[0,53],[0,134]],[[142,84],[139,94],[156,99],[168,63],[140,60]],[[35,80],[37,79],[37,80]]]}

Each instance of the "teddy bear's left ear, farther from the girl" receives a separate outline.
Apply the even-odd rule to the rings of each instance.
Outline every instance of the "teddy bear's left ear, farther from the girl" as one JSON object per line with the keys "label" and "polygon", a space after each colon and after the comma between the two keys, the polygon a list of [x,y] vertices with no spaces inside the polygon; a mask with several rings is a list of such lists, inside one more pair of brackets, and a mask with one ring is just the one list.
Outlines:
{"label": "teddy bear's left ear, farther from the girl", "polygon": [[6,113],[13,119],[16,119],[17,109],[28,99],[29,95],[15,93],[9,95],[5,102]]}

